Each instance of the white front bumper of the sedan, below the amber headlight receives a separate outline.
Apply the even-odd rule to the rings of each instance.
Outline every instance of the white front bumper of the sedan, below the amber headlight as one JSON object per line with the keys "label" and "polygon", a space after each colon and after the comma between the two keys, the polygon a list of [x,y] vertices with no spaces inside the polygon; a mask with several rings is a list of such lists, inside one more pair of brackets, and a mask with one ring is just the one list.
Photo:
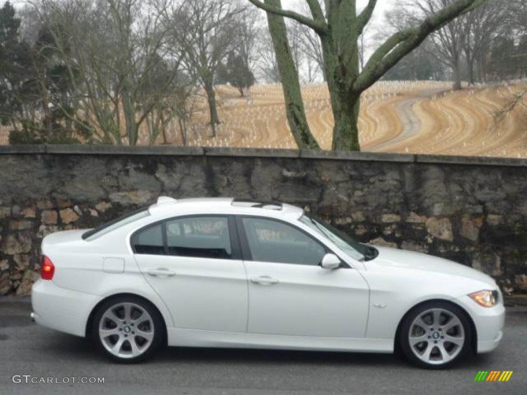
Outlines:
{"label": "white front bumper of the sedan, below the amber headlight", "polygon": [[484,308],[468,296],[457,298],[457,301],[470,313],[474,321],[477,334],[477,353],[483,354],[494,350],[503,337],[503,326],[505,324],[503,303],[492,308]]}

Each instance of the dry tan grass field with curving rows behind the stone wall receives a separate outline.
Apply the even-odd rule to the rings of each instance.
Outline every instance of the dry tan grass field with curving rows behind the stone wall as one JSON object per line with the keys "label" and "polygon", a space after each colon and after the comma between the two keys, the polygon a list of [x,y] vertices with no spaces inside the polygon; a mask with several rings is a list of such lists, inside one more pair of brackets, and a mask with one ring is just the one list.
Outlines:
{"label": "dry tan grass field with curving rows behind the stone wall", "polygon": [[[526,85],[465,88],[447,82],[380,82],[362,97],[359,118],[364,151],[527,157],[527,95],[503,112]],[[311,130],[323,149],[331,145],[333,116],[325,85],[302,88]],[[258,85],[248,97],[229,86],[217,88],[217,136],[210,137],[204,102],[197,106],[188,145],[295,148],[288,129],[280,85]],[[167,131],[180,145],[177,122]],[[161,139],[159,139],[159,143]],[[7,144],[6,130],[0,144]],[[140,144],[148,144],[142,131]]]}

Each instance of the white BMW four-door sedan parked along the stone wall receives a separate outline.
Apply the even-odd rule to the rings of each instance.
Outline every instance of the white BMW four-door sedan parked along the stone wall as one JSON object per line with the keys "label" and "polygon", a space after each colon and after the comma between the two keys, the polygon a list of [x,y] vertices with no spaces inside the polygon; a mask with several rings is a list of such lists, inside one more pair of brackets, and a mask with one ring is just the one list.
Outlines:
{"label": "white BMW four-door sedan parked along the stone wall", "polygon": [[161,345],[392,353],[444,368],[502,338],[495,281],[358,243],[304,210],[160,197],[93,230],[48,235],[33,319],[143,360]]}

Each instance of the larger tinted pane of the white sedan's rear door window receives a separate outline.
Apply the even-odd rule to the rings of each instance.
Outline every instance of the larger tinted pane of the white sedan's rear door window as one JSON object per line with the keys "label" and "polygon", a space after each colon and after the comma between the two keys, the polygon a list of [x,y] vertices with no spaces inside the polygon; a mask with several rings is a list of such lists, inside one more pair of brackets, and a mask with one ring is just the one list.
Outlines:
{"label": "larger tinted pane of the white sedan's rear door window", "polygon": [[191,217],[167,222],[170,255],[194,258],[232,258],[227,217]]}

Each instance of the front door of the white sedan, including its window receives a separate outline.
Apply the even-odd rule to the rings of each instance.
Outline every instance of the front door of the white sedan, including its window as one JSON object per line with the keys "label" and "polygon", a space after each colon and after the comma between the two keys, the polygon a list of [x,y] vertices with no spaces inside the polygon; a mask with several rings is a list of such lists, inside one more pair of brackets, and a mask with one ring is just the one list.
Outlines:
{"label": "front door of the white sedan, including its window", "polygon": [[357,270],[323,269],[326,246],[289,223],[243,216],[237,225],[249,278],[249,333],[364,337],[369,291]]}

